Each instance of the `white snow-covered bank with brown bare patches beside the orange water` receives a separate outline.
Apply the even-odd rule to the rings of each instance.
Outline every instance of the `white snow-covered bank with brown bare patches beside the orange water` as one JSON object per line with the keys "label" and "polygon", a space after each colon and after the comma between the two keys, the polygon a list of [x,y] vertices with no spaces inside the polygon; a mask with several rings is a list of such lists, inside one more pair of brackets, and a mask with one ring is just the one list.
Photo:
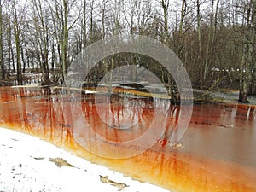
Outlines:
{"label": "white snow-covered bank with brown bare patches beside the orange water", "polygon": [[119,172],[56,148],[37,137],[0,128],[0,191],[156,191]]}

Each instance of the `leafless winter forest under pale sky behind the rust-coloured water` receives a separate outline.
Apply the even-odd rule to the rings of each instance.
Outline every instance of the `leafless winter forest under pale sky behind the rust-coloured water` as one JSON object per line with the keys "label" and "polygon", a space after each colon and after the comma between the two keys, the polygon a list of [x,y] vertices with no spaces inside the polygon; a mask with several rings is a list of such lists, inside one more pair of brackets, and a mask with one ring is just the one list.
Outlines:
{"label": "leafless winter forest under pale sky behind the rust-coloured water", "polygon": [[[0,0],[0,84],[62,84],[86,46],[119,34],[166,44],[194,89],[239,90],[239,102],[256,95],[255,0]],[[164,67],[137,54],[106,58],[88,80],[124,62],[174,89]]]}

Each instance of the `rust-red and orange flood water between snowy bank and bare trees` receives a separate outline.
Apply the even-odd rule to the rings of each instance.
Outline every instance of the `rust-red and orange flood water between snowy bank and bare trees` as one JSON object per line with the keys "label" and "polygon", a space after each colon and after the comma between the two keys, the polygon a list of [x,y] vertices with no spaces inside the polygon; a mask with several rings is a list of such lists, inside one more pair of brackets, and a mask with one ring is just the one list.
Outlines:
{"label": "rust-red and orange flood water between snowy bank and bare trees", "polygon": [[[61,94],[60,89],[0,88],[0,125],[173,191],[256,191],[255,106],[195,105],[181,141],[184,148],[172,148],[168,138],[182,119],[178,119],[178,108],[165,100],[153,104],[147,98],[132,99],[124,108],[119,99],[106,104],[100,96],[102,102],[96,105],[93,95],[75,98]],[[169,115],[167,120],[164,115]],[[159,137],[161,128],[168,125],[171,129]],[[154,131],[148,131],[149,127]],[[148,141],[144,143],[119,145],[145,133]],[[150,141],[154,145],[147,148]],[[84,144],[88,144],[86,149]],[[127,153],[137,155],[107,158]]]}

